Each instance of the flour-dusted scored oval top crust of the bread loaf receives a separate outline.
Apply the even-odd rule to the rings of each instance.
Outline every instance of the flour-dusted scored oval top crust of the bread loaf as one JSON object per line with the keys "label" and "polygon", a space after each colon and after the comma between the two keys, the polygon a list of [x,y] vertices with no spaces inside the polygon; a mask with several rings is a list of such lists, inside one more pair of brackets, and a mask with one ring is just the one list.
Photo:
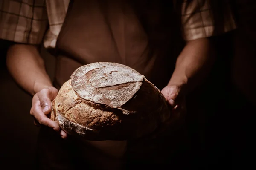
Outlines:
{"label": "flour-dusted scored oval top crust of the bread loaf", "polygon": [[121,107],[140,89],[144,76],[118,63],[91,63],[71,75],[73,89],[83,99]]}

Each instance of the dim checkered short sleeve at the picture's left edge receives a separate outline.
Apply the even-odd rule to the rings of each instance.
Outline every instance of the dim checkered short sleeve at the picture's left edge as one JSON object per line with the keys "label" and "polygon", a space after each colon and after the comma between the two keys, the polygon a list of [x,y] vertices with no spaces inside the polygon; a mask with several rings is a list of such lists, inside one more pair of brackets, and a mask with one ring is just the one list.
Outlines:
{"label": "dim checkered short sleeve at the picture's left edge", "polygon": [[0,0],[0,39],[40,44],[47,26],[45,0]]}

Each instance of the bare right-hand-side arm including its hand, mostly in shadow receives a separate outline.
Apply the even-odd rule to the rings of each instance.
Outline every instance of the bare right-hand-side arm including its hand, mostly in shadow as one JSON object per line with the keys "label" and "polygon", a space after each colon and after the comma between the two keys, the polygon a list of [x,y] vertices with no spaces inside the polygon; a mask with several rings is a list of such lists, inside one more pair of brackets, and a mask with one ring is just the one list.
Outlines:
{"label": "bare right-hand-side arm including its hand, mostly in shadow", "polygon": [[[209,38],[191,40],[186,43],[176,61],[175,70],[168,85],[162,90],[169,104],[180,112],[185,107],[185,96],[208,75],[215,61]],[[178,107],[181,106],[181,107]]]}

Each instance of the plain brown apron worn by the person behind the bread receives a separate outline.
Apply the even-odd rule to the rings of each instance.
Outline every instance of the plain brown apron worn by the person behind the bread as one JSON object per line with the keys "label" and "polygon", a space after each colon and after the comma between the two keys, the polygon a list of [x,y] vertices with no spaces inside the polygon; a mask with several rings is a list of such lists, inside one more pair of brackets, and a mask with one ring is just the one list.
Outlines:
{"label": "plain brown apron worn by the person behind the bread", "polygon": [[[171,12],[170,4],[161,5],[157,0],[70,1],[56,43],[55,86],[60,88],[79,66],[108,61],[136,69],[162,89],[171,78],[177,55],[183,46],[177,27],[179,23],[172,20]],[[52,134],[51,138],[57,137]],[[58,169],[57,166],[72,169],[70,166],[73,164],[84,167],[91,165],[96,169],[115,169],[122,162],[120,155],[123,155],[126,146],[126,141],[102,141],[100,145],[94,142],[94,147],[89,147],[90,144],[76,139],[63,142],[60,138],[52,141],[48,137],[47,140],[51,143],[50,149],[48,147],[51,159],[47,161],[47,153],[42,152],[42,148],[45,152],[47,150],[44,146],[39,149],[41,156],[38,160],[41,160],[41,164],[51,161],[48,167],[55,166],[55,169]],[[40,148],[40,139],[38,141]],[[103,153],[99,150],[102,144],[106,144],[104,149],[120,151],[114,153],[118,156],[113,156],[113,150]],[[54,150],[60,154],[55,156]]]}

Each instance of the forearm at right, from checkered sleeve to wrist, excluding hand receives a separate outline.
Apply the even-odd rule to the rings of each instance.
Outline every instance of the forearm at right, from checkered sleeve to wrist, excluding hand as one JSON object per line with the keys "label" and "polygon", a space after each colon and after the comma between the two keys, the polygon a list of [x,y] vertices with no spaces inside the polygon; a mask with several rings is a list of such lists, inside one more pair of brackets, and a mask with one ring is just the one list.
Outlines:
{"label": "forearm at right, from checkered sleeve to wrist, excluding hand", "polygon": [[211,42],[208,38],[189,41],[176,61],[175,71],[168,85],[195,88],[209,73],[214,61]]}

